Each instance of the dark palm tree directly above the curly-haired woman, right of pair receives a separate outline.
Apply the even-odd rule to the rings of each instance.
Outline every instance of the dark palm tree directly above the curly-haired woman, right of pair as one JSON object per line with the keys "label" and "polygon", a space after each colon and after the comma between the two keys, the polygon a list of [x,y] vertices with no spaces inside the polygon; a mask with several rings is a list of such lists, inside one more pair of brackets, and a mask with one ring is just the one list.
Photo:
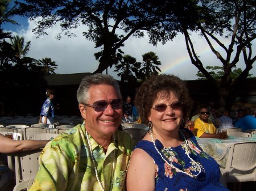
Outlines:
{"label": "dark palm tree directly above the curly-haired woman, right of pair", "polygon": [[158,67],[161,65],[161,62],[158,61],[158,56],[154,52],[148,52],[142,55],[143,62],[142,68],[139,70],[139,79],[143,81],[150,78],[151,75],[158,75],[158,71],[161,72],[160,68]]}

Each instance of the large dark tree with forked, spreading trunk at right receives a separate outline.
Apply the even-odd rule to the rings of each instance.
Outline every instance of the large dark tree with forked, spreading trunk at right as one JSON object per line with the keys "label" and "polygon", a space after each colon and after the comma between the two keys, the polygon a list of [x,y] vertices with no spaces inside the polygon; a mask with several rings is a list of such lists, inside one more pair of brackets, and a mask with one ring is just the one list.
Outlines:
{"label": "large dark tree with forked, spreading trunk at right", "polygon": [[[164,7],[162,17],[167,23],[163,27],[172,31],[172,20],[168,18],[168,10],[176,4],[177,31],[183,33],[189,57],[193,65],[214,84],[218,93],[220,107],[230,109],[236,97],[234,91],[242,84],[256,60],[252,41],[256,38],[256,1],[255,0],[197,0],[197,1],[162,1],[152,2],[152,6]],[[201,60],[196,40],[191,33],[199,33],[205,44],[216,56],[214,65],[221,66],[224,74],[219,79],[207,71],[209,61]],[[156,36],[158,37],[158,36]],[[155,43],[158,39],[152,34]],[[229,40],[226,43],[225,39]],[[236,78],[232,78],[232,69],[243,62],[245,68]],[[218,63],[218,64],[217,64]]]}

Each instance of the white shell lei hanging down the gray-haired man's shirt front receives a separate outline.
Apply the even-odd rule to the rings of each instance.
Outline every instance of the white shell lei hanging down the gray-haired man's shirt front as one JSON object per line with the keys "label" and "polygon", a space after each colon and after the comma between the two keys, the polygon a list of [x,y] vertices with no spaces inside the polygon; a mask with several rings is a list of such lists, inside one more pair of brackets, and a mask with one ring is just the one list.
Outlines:
{"label": "white shell lei hanging down the gray-haired man's shirt front", "polygon": [[[85,130],[85,134],[86,134],[86,139],[87,139],[87,142],[88,142],[88,145],[89,145],[89,150],[90,150],[90,158],[92,159],[93,161],[93,167],[94,167],[94,171],[95,171],[95,175],[96,175],[96,179],[98,181],[98,184],[100,185],[101,187],[101,190],[102,191],[105,191],[104,190],[104,186],[102,184],[102,182],[100,181],[99,177],[98,177],[98,171],[97,171],[97,168],[96,168],[96,165],[95,165],[95,159],[94,159],[94,156],[93,156],[93,152],[92,152],[92,145],[90,145],[90,141],[89,141],[89,135],[87,133],[87,131]],[[113,135],[114,136],[114,135]],[[114,143],[115,143],[115,137],[114,137]],[[113,179],[114,179],[114,168],[115,168],[115,150],[114,150],[114,154],[113,154],[113,169],[112,169],[112,175],[110,177],[110,189],[109,190],[112,190],[112,184],[113,184]],[[107,189],[108,189],[108,186],[106,186]]]}

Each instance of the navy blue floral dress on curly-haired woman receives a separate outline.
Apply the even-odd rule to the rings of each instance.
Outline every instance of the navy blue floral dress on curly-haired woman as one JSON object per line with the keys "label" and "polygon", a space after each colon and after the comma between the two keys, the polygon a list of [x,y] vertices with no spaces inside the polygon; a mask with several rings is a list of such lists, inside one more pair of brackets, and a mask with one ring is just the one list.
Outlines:
{"label": "navy blue floral dress on curly-haired woman", "polygon": [[[198,145],[195,136],[188,129],[182,129],[183,135],[186,139],[188,139],[189,150],[191,155],[193,155],[193,159],[197,158],[197,160],[203,165],[205,172],[204,180],[197,180],[195,177],[191,177],[186,175],[183,172],[176,172],[175,168],[172,168],[168,165],[163,158],[156,151],[154,144],[150,141],[140,141],[137,143],[135,148],[141,148],[147,152],[148,155],[154,159],[155,162],[155,190],[159,191],[222,191],[229,190],[225,188],[218,180],[220,179],[220,168],[218,167],[217,162],[207,155],[201,147]],[[182,136],[181,136],[182,137]],[[159,141],[158,141],[159,142]],[[160,143],[160,142],[159,142]],[[160,143],[161,144],[161,143]],[[162,156],[167,156],[167,154],[171,154],[171,157],[168,156],[167,162],[170,163],[176,162],[183,166],[184,171],[190,171],[192,175],[197,175],[199,173],[198,168],[194,168],[191,165],[191,159],[188,158],[187,154],[185,154],[184,145],[181,144],[177,147],[168,147],[159,149],[162,152]],[[134,148],[134,149],[135,149]],[[158,148],[158,147],[157,147]],[[165,155],[164,155],[164,152]]]}

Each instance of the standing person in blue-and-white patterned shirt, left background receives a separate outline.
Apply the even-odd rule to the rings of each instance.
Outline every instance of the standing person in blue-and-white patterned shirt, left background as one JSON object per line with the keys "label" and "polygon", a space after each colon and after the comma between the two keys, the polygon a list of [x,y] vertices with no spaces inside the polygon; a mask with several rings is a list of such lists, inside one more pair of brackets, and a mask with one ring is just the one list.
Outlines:
{"label": "standing person in blue-and-white patterned shirt, left background", "polygon": [[40,120],[43,124],[53,124],[54,123],[54,105],[52,100],[55,97],[54,90],[48,89],[46,91],[46,101],[44,101],[43,107],[40,113]]}

